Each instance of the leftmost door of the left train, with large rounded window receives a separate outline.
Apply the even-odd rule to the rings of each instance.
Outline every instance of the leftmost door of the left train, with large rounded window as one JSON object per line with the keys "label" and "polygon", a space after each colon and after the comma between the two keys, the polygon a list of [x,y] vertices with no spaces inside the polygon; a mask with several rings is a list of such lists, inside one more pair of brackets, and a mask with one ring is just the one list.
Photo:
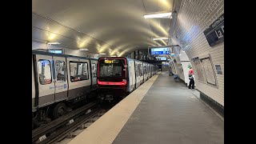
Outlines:
{"label": "leftmost door of the left train, with large rounded window", "polygon": [[38,107],[54,102],[54,77],[52,56],[36,55],[38,69]]}

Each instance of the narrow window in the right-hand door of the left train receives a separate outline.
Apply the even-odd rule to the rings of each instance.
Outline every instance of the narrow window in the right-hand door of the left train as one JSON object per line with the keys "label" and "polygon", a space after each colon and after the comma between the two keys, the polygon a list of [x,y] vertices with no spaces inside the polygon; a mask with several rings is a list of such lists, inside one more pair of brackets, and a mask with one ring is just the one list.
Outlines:
{"label": "narrow window in the right-hand door of the left train", "polygon": [[65,65],[64,61],[56,61],[55,62],[57,82],[65,82],[66,81],[65,67],[66,67],[66,65]]}

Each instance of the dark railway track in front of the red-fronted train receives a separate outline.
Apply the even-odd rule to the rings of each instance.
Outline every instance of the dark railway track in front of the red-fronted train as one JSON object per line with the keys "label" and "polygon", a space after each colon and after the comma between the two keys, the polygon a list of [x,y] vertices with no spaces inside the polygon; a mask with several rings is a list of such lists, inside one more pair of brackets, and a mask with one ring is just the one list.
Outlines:
{"label": "dark railway track in front of the red-fronted train", "polygon": [[98,101],[90,102],[86,106],[47,123],[45,126],[32,130],[32,143],[57,142],[59,139],[65,138],[72,130],[77,129],[83,122],[89,121],[90,118],[94,118],[102,111],[104,110]]}

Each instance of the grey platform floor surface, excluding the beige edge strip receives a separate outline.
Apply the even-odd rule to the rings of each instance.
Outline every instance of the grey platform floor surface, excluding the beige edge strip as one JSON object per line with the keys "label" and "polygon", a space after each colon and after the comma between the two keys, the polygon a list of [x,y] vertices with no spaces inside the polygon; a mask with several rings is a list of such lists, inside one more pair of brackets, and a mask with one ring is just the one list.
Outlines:
{"label": "grey platform floor surface, excluding the beige edge strip", "polygon": [[162,73],[113,142],[121,143],[224,143],[224,122]]}

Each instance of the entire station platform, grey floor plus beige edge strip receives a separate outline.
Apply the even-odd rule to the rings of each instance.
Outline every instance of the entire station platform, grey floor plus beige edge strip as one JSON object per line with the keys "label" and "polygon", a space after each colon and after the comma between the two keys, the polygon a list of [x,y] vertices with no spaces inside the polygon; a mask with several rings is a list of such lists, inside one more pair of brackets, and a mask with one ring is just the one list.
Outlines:
{"label": "entire station platform, grey floor plus beige edge strip", "polygon": [[69,143],[224,143],[224,119],[197,93],[158,72]]}

